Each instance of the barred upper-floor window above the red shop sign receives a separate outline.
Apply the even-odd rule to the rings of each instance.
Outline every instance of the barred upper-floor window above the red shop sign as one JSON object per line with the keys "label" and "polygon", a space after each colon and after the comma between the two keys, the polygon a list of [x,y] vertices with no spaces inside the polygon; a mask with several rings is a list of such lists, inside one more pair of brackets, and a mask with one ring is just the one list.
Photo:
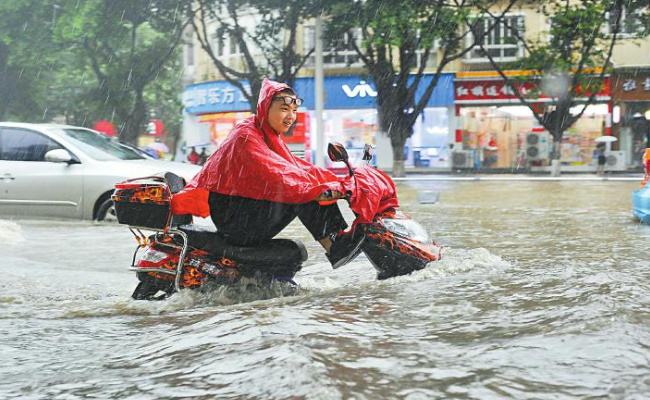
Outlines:
{"label": "barred upper-floor window above the red shop sign", "polygon": [[518,39],[524,35],[523,15],[506,16],[491,31],[489,28],[494,23],[492,18],[477,19],[478,23],[472,29],[472,35],[468,35],[469,41],[476,39],[477,46],[467,53],[465,62],[487,62],[488,54],[496,62],[514,61],[524,55],[523,46]]}

